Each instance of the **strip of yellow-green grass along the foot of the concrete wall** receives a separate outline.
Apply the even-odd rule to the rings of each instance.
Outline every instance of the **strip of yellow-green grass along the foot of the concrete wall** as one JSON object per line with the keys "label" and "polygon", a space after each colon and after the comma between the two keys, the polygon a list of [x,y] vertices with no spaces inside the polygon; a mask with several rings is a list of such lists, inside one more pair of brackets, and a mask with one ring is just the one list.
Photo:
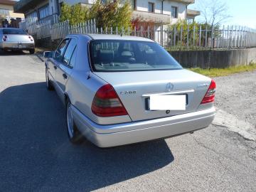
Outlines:
{"label": "strip of yellow-green grass along the foot of the concrete wall", "polygon": [[256,70],[256,63],[252,63],[250,65],[240,65],[230,68],[210,68],[210,69],[201,69],[201,68],[189,68],[188,70],[191,70],[196,73],[200,73],[202,75],[206,75],[210,78],[218,77],[218,76],[226,76],[226,75],[232,75],[234,73],[242,73],[246,71],[252,71]]}

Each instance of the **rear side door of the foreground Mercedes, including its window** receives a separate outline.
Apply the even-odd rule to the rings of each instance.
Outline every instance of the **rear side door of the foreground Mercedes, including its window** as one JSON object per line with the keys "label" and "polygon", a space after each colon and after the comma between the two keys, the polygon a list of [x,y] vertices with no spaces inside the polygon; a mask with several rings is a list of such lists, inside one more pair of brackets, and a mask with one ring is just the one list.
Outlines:
{"label": "rear side door of the foreground Mercedes, including its window", "polygon": [[[73,66],[75,65],[76,47],[77,39],[70,38],[68,46],[65,49],[65,53],[63,55],[63,59],[59,62],[58,68],[56,70],[56,82],[58,87],[60,87],[63,96],[65,93],[65,85],[68,82],[68,79],[73,72]],[[62,100],[65,102],[65,97],[63,97]]]}

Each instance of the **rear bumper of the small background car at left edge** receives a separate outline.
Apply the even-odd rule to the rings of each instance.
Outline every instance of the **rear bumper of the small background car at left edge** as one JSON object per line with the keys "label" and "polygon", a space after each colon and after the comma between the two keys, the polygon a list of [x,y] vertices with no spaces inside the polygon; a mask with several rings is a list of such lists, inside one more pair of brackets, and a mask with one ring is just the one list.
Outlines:
{"label": "rear bumper of the small background car at left edge", "polygon": [[0,42],[0,48],[6,50],[29,50],[35,48],[34,42],[21,42],[21,46],[18,46],[19,42]]}

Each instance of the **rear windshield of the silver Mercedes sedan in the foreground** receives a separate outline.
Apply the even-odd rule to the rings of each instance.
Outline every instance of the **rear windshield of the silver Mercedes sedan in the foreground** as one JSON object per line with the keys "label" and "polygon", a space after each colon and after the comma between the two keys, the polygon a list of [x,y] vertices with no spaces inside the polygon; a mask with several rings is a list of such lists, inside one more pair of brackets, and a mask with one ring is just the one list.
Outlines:
{"label": "rear windshield of the silver Mercedes sedan in the foreground", "polygon": [[102,72],[182,69],[159,44],[144,41],[91,41],[90,62]]}

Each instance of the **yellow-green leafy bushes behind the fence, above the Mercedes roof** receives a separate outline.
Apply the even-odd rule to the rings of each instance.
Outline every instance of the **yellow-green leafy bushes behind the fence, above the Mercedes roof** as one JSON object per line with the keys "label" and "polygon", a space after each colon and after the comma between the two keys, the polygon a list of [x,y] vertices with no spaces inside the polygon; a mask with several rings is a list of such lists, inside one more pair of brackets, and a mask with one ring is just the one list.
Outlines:
{"label": "yellow-green leafy bushes behind the fence, above the Mercedes roof", "polygon": [[90,9],[81,6],[81,4],[75,4],[74,6],[63,4],[61,6],[60,21],[69,20],[70,24],[73,25],[89,19],[96,20],[97,28],[117,27],[119,30],[122,28],[127,30],[131,26],[132,6],[129,1],[121,4],[120,0],[107,0],[104,4],[102,0],[97,0]]}

